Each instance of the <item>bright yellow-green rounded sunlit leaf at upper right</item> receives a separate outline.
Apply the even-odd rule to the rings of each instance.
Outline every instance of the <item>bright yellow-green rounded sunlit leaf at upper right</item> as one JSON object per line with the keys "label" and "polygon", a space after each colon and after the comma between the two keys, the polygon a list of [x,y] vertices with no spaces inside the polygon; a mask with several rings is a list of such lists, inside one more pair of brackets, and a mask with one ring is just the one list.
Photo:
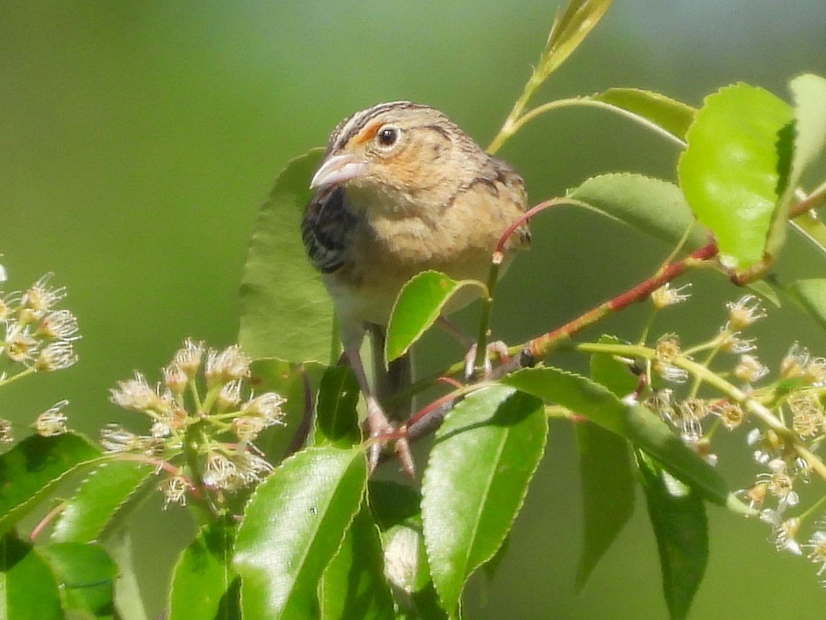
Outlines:
{"label": "bright yellow-green rounded sunlit leaf at upper right", "polygon": [[705,98],[688,131],[680,185],[729,269],[744,272],[764,259],[779,198],[778,137],[791,120],[781,99],[738,83]]}

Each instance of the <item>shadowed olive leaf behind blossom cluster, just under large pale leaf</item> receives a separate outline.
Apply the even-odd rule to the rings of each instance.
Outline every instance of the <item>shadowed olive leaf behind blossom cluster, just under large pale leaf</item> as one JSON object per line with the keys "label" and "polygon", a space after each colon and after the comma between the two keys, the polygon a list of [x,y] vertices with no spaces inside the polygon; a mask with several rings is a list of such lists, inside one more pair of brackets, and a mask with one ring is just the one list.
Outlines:
{"label": "shadowed olive leaf behind blossom cluster, just under large pale leaf", "polygon": [[283,426],[265,429],[255,441],[270,462],[278,463],[287,452],[301,449],[311,436],[313,398],[325,368],[317,362],[293,364],[274,359],[253,362],[249,381],[256,393],[277,392],[287,398],[281,406]]}

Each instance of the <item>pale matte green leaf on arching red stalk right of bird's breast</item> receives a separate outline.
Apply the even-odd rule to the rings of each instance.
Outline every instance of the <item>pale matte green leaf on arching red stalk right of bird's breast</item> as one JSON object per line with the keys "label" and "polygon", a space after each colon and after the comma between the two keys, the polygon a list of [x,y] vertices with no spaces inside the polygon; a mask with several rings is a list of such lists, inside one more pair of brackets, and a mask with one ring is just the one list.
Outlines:
{"label": "pale matte green leaf on arching red stalk right of bird's breast", "polygon": [[628,224],[673,246],[691,228],[687,246],[708,243],[708,231],[700,227],[675,184],[642,174],[601,174],[567,192],[596,212]]}

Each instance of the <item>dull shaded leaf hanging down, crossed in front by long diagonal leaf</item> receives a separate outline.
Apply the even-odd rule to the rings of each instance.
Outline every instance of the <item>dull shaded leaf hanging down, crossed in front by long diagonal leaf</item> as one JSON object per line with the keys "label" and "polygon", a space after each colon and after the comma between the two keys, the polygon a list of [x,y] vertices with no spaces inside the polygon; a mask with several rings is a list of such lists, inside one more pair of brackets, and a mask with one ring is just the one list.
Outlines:
{"label": "dull shaded leaf hanging down, crossed in front by long diagonal leaf", "polygon": [[[600,342],[618,342],[602,336]],[[638,377],[613,355],[591,355],[591,379],[616,396],[634,393]],[[577,589],[582,589],[601,557],[608,551],[634,513],[634,474],[628,441],[591,422],[578,422],[580,484],[582,487],[582,557],[577,567]]]}

